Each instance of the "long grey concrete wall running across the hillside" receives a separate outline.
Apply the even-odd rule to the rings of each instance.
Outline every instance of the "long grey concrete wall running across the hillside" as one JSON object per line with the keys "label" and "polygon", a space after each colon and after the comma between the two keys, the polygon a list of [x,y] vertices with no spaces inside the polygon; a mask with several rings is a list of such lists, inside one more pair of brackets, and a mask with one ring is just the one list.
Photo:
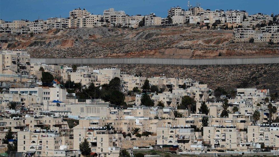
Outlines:
{"label": "long grey concrete wall running across the hillside", "polygon": [[171,64],[226,65],[279,63],[279,57],[233,59],[164,59],[164,58],[31,58],[31,63],[49,64]]}

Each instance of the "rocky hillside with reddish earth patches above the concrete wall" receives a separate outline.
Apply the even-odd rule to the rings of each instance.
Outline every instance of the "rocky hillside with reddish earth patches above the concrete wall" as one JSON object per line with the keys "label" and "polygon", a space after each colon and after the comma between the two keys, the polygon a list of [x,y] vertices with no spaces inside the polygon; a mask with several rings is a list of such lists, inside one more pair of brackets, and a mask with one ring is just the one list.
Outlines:
{"label": "rocky hillside with reddish earth patches above the concrete wall", "polygon": [[278,45],[231,43],[232,31],[191,27],[53,29],[15,37],[2,48],[27,49],[31,57],[215,58],[279,53]]}

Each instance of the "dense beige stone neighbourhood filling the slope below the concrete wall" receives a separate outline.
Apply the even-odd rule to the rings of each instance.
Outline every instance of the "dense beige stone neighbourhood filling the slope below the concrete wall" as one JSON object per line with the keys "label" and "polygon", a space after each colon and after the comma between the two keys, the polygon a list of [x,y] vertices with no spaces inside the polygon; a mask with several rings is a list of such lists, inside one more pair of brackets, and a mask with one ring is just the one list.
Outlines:
{"label": "dense beige stone neighbourhood filling the slope below the concrete wall", "polygon": [[268,89],[226,92],[164,74],[32,63],[24,50],[0,58],[0,144],[17,142],[10,154],[83,156],[84,144],[99,157],[278,153],[278,96]]}

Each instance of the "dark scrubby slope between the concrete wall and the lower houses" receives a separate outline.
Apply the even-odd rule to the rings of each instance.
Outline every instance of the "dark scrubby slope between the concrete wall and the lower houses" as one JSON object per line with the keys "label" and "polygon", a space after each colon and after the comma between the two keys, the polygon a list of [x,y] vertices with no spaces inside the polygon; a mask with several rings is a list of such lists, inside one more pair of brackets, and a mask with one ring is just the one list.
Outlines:
{"label": "dark scrubby slope between the concrete wall and the lower houses", "polygon": [[166,77],[192,78],[208,84],[209,88],[218,86],[228,90],[232,88],[269,89],[279,91],[278,64],[248,64],[248,65],[91,65],[95,68],[114,67],[127,73],[142,73],[151,77],[165,75]]}

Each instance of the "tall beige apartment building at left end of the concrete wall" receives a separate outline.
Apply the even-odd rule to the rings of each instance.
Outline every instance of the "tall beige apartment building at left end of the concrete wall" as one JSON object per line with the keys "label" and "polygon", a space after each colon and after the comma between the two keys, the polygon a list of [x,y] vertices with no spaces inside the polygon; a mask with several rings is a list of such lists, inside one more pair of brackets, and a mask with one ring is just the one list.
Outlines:
{"label": "tall beige apartment building at left end of the concrete wall", "polygon": [[24,50],[0,51],[1,74],[30,74],[30,55]]}

